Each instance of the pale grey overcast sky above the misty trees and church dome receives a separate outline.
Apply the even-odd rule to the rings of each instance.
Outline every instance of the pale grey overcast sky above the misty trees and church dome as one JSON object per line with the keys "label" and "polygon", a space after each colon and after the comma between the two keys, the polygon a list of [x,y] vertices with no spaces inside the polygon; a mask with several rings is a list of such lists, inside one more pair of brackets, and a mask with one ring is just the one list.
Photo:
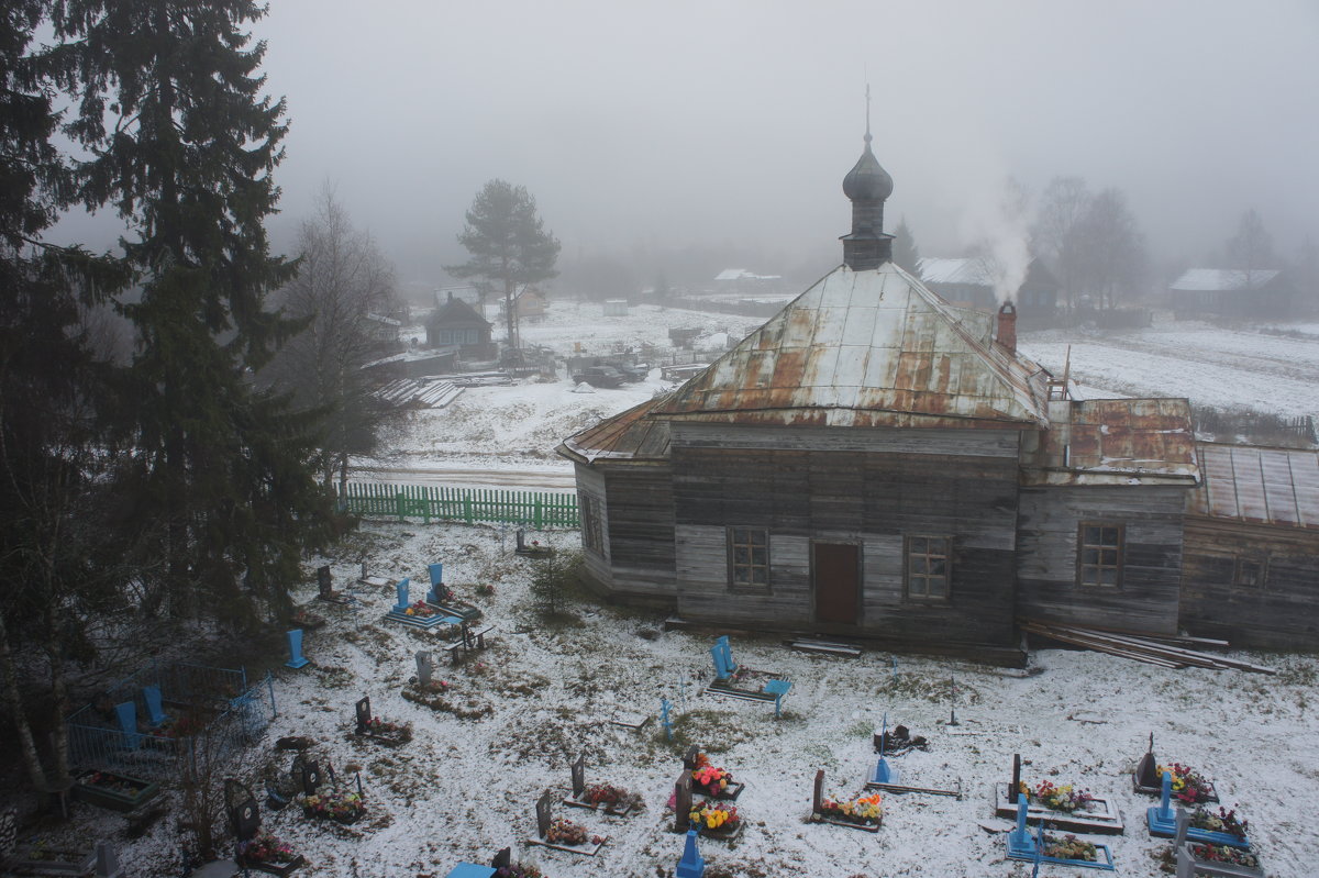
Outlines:
{"label": "pale grey overcast sky above the misty trees and church dome", "polygon": [[269,4],[277,243],[328,179],[405,281],[443,279],[493,177],[566,258],[728,244],[827,270],[867,78],[886,225],[927,256],[1005,174],[1122,189],[1162,257],[1203,260],[1248,207],[1286,254],[1319,239],[1319,0]]}

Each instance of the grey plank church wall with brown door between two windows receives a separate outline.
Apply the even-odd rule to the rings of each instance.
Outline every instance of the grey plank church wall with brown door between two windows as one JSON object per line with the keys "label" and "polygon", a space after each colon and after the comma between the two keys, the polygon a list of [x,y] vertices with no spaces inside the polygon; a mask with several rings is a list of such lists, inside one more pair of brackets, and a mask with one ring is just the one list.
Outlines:
{"label": "grey plank church wall with brown door between two windows", "polygon": [[[679,614],[827,633],[814,622],[811,541],[851,542],[861,616],[836,633],[1009,645],[1017,443],[996,430],[674,424]],[[769,531],[768,592],[729,588],[727,526]],[[954,538],[948,601],[904,596],[904,534]]]}

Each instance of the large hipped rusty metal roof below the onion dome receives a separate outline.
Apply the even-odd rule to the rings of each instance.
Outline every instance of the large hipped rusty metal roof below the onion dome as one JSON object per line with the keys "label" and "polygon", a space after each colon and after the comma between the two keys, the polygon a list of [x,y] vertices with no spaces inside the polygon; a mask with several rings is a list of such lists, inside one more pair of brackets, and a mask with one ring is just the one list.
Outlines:
{"label": "large hipped rusty metal roof below the onion dome", "polygon": [[1047,373],[892,262],[839,266],[652,410],[820,426],[1046,426]]}

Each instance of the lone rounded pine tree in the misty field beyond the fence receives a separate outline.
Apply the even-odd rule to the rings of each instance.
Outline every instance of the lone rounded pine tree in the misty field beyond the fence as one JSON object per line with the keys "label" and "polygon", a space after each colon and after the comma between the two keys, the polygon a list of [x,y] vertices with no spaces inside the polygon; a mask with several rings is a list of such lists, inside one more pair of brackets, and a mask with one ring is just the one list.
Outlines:
{"label": "lone rounded pine tree in the misty field beyond the fence", "polygon": [[517,352],[517,307],[513,295],[524,283],[555,277],[559,241],[545,231],[536,212],[536,199],[524,186],[492,179],[476,192],[467,210],[467,225],[458,236],[471,258],[462,265],[446,265],[454,277],[481,278],[487,289],[499,283],[504,293],[508,344]]}

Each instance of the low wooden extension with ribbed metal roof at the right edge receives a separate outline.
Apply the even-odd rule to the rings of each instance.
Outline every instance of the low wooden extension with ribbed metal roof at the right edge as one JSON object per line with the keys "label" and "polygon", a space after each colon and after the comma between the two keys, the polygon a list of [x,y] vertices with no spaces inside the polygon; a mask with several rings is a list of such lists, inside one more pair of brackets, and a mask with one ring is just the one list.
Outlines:
{"label": "low wooden extension with ribbed metal roof at the right edge", "polygon": [[1319,452],[1199,443],[1181,617],[1239,646],[1319,646]]}

